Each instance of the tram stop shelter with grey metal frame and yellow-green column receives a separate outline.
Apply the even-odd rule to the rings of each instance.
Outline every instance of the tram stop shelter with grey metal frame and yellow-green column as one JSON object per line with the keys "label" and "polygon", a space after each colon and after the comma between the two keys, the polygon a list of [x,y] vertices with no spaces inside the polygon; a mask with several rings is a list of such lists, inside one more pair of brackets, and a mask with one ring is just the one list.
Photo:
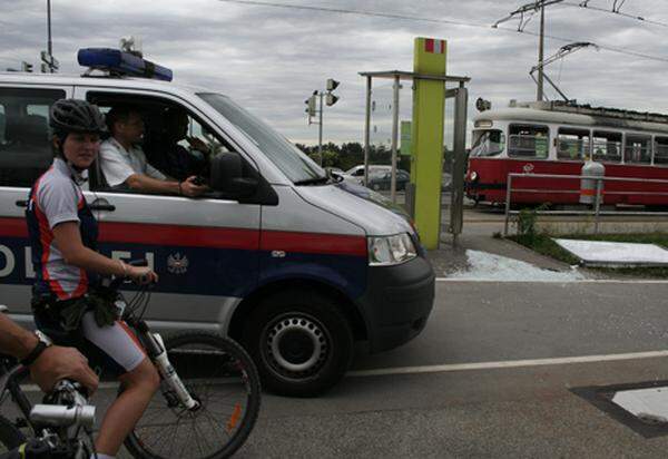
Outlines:
{"label": "tram stop shelter with grey metal frame and yellow-green column", "polygon": [[[390,185],[391,198],[394,203],[396,203],[396,163],[400,136],[400,88],[401,81],[412,82],[413,120],[411,133],[414,148],[411,152],[411,183],[406,185],[405,206],[414,218],[426,248],[438,248],[441,241],[441,208],[445,204],[441,203],[445,99],[454,99],[452,192],[450,194],[450,219],[446,231],[452,234],[453,244],[456,244],[463,226],[466,106],[469,99],[465,84],[471,78],[401,70],[363,71],[360,75],[366,78],[365,186],[369,184],[373,80],[392,79],[394,81],[392,86],[392,175]],[[448,84],[454,84],[455,87],[448,89]],[[420,97],[426,104],[421,104]],[[438,100],[434,100],[434,98],[438,98]],[[440,130],[440,133],[435,133],[434,129]]]}

